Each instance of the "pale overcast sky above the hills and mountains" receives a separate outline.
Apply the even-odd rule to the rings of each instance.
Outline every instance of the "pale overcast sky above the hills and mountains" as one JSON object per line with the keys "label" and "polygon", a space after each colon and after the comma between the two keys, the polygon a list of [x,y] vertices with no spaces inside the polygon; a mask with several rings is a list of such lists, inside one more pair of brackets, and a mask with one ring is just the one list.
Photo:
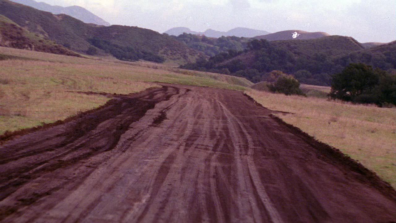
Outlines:
{"label": "pale overcast sky above the hills and mountains", "polygon": [[359,42],[396,40],[395,0],[36,0],[82,6],[111,24],[160,33],[173,27],[193,31],[235,27],[323,31]]}

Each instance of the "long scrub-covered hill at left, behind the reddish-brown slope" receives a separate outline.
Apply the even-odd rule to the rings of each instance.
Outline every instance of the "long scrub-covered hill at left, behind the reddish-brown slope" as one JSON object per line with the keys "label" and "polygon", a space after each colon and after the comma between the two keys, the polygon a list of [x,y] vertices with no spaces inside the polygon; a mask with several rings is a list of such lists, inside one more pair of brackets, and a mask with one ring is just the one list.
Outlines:
{"label": "long scrub-covered hill at left, behind the reddish-brown slope", "polygon": [[[0,0],[0,14],[30,32],[84,54],[112,54],[122,60],[154,58],[154,61],[158,61],[158,58],[162,58],[161,62],[179,64],[192,62],[200,56],[199,52],[168,35],[148,29],[87,24],[69,15],[53,15],[8,0]],[[92,38],[108,43],[93,46],[90,41]]]}

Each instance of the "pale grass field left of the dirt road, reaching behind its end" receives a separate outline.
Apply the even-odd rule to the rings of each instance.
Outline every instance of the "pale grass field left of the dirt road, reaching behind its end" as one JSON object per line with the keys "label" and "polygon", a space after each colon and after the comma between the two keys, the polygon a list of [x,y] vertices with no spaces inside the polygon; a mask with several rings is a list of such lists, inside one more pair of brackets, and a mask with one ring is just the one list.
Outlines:
{"label": "pale grass field left of the dirt road, reaching behind its end", "polygon": [[4,47],[0,47],[0,55],[11,59],[0,58],[0,135],[62,120],[110,99],[72,91],[129,94],[159,87],[148,83],[154,81],[235,90],[245,90],[249,85],[238,77],[166,66],[159,69],[144,62],[76,58]]}

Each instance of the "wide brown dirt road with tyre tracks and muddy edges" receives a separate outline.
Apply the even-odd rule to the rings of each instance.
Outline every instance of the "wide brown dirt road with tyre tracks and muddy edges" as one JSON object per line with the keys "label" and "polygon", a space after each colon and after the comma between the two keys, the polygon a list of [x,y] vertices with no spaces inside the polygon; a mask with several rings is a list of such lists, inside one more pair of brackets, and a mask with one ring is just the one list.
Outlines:
{"label": "wide brown dirt road with tyre tracks and muddy edges", "polygon": [[395,192],[242,92],[166,85],[0,145],[1,222],[396,222]]}

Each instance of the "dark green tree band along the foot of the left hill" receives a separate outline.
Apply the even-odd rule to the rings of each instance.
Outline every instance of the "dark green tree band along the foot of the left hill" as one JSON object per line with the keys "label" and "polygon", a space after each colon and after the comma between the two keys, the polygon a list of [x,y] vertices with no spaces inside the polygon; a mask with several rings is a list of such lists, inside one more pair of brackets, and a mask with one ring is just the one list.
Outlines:
{"label": "dark green tree band along the foot of the left hill", "polygon": [[[93,46],[104,50],[106,53],[112,54],[118,60],[137,61],[139,59],[143,59],[158,63],[165,61],[162,56],[144,50],[133,49],[128,46],[120,46],[99,37],[90,38],[88,39],[88,42]],[[90,55],[95,55],[97,52],[94,47],[90,47],[88,48],[87,53]]]}

